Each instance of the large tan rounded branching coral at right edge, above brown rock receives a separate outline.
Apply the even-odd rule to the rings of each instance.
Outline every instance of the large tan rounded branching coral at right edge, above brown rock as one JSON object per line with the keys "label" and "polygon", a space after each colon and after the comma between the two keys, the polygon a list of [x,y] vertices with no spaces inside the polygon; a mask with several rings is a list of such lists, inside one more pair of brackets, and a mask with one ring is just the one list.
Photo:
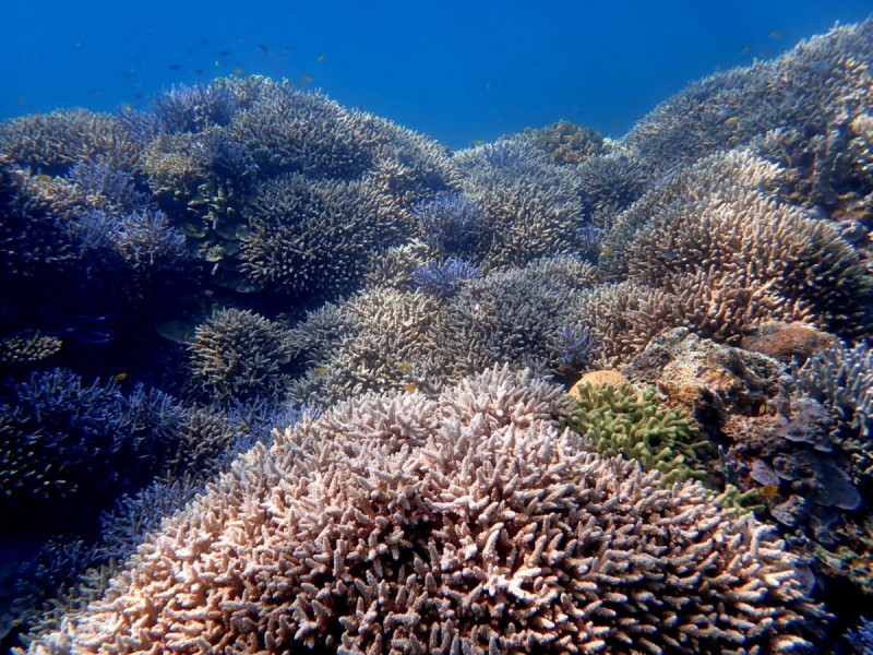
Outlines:
{"label": "large tan rounded branching coral at right edge, above brown rock", "polygon": [[780,175],[743,150],[696,163],[619,217],[603,272],[673,294],[684,324],[721,341],[768,320],[863,330],[873,278],[830,222],[769,194]]}

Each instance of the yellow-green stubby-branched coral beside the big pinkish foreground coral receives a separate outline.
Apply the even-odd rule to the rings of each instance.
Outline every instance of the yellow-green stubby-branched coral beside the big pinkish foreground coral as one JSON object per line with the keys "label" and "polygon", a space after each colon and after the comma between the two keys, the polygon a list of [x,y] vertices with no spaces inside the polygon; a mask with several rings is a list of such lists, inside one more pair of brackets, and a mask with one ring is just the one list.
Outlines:
{"label": "yellow-green stubby-branched coral beside the big pinkish foreground coral", "polygon": [[662,407],[654,389],[641,393],[626,382],[586,382],[577,391],[576,408],[565,422],[590,450],[660,471],[666,487],[706,475],[696,452],[709,443],[692,441],[699,425],[687,412]]}

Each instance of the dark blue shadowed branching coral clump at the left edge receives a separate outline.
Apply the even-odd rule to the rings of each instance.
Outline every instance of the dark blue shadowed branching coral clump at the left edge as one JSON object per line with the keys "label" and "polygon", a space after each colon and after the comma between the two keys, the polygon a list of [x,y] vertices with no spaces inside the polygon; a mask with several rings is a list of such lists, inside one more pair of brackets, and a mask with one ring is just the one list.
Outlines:
{"label": "dark blue shadowed branching coral clump at the left edge", "polygon": [[[186,409],[137,385],[34,372],[0,405],[0,517],[27,531],[86,525],[92,512],[172,467]],[[76,508],[76,511],[71,511]],[[26,517],[26,520],[25,520]]]}

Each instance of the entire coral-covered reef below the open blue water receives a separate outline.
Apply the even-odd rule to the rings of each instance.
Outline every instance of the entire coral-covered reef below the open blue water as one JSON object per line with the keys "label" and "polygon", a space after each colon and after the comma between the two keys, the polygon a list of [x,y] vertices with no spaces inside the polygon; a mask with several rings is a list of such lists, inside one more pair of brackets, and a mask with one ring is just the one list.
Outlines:
{"label": "entire coral-covered reef below the open blue water", "polygon": [[873,22],[452,152],[0,123],[14,653],[873,653]]}

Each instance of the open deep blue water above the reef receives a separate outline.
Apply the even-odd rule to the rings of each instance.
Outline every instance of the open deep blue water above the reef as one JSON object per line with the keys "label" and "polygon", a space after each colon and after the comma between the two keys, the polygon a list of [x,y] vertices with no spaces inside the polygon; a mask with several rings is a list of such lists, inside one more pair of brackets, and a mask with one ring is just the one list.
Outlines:
{"label": "open deep blue water above the reef", "polygon": [[452,147],[559,119],[619,136],[692,80],[871,11],[870,0],[19,0],[0,23],[0,118],[140,107],[174,83],[238,72],[320,87]]}

